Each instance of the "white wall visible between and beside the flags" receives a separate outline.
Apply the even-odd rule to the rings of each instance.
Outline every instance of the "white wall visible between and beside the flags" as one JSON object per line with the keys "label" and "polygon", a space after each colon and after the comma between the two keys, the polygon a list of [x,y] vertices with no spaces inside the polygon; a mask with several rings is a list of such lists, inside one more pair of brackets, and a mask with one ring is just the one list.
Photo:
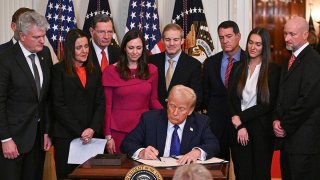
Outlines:
{"label": "white wall visible between and beside the flags", "polygon": [[[45,14],[47,0],[1,0],[0,2],[0,43],[8,41],[12,37],[10,29],[11,16],[16,9],[25,6],[33,8],[41,14]],[[82,28],[84,16],[89,0],[73,0],[75,16],[78,28]],[[160,28],[170,23],[174,8],[174,0],[158,0]],[[234,20],[238,23],[242,33],[241,46],[245,47],[245,39],[251,30],[252,2],[249,0],[202,0],[206,13],[207,23],[214,41],[215,51],[221,50],[217,37],[217,26],[225,20]],[[109,0],[111,12],[121,41],[127,20],[129,0]]]}

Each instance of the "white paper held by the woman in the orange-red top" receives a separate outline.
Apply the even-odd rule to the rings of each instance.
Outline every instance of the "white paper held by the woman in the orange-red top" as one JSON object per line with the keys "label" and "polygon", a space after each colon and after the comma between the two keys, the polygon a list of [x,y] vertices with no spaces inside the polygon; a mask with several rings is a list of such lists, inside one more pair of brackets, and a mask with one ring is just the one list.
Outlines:
{"label": "white paper held by the woman in the orange-red top", "polygon": [[106,139],[92,138],[88,144],[82,144],[80,138],[70,143],[68,164],[82,164],[97,154],[103,154]]}

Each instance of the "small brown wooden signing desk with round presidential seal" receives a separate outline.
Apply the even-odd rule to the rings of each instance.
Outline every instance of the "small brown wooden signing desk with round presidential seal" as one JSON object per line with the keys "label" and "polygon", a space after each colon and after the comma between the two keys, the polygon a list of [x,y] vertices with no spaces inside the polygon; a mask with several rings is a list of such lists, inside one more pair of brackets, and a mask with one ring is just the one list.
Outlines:
{"label": "small brown wooden signing desk with round presidential seal", "polygon": [[[77,167],[71,174],[70,179],[124,179],[127,172],[134,166],[141,163],[132,159],[125,159],[120,166],[93,166],[90,160]],[[229,166],[228,163],[205,165],[211,172],[215,180],[227,179]],[[176,167],[156,168],[163,179],[172,179]]]}

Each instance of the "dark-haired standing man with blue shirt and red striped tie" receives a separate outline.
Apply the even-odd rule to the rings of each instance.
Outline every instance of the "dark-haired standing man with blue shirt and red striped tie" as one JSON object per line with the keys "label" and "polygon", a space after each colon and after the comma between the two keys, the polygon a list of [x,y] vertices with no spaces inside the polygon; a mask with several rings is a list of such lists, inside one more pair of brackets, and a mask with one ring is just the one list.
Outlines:
{"label": "dark-haired standing man with blue shirt and red striped tie", "polygon": [[[228,111],[226,76],[234,62],[245,58],[240,48],[241,34],[238,25],[233,21],[224,21],[218,26],[218,35],[222,51],[207,58],[203,66],[204,109],[211,119],[210,127],[220,142],[218,157],[229,160],[229,128],[231,117]],[[231,58],[230,64],[228,58]]]}

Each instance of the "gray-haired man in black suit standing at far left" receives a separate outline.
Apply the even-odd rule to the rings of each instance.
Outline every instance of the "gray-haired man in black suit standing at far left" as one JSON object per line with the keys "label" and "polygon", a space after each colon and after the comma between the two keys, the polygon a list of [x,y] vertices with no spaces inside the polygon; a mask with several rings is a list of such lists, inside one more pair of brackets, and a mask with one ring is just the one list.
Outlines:
{"label": "gray-haired man in black suit standing at far left", "polygon": [[21,15],[18,42],[0,56],[0,174],[2,179],[42,179],[49,150],[52,60],[44,41],[48,23],[36,12]]}

